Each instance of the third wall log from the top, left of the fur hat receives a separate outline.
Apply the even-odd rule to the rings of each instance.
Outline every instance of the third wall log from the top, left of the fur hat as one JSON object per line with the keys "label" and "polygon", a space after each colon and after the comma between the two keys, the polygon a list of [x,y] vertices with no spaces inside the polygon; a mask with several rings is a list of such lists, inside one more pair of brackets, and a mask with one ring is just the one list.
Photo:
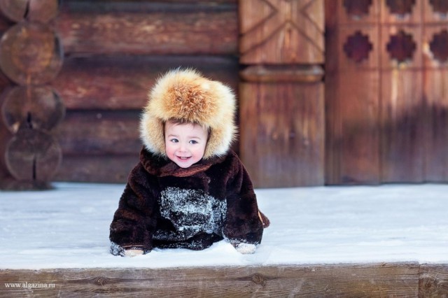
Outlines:
{"label": "third wall log from the top, left of the fur hat", "polygon": [[55,130],[64,155],[133,154],[138,157],[139,111],[69,111]]}

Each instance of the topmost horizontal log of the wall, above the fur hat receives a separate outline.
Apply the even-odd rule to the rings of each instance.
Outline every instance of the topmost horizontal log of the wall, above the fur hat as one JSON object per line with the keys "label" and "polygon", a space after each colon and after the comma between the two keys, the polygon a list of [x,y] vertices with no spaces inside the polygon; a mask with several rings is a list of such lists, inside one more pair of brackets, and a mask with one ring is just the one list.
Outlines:
{"label": "topmost horizontal log of the wall, above the fur hat", "polygon": [[64,3],[53,23],[68,55],[234,55],[238,52],[236,5],[165,3],[160,6],[159,1],[116,3],[115,6],[111,5],[113,1],[98,5],[90,1]]}

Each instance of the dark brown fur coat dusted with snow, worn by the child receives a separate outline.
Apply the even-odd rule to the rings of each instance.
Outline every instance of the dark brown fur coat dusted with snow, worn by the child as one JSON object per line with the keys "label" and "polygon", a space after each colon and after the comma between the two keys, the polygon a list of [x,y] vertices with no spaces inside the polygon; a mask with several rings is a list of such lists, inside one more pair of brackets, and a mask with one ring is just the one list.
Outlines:
{"label": "dark brown fur coat dusted with snow, worn by the child", "polygon": [[111,253],[202,250],[222,239],[256,245],[263,225],[269,221],[235,152],[183,169],[143,149],[111,223]]}

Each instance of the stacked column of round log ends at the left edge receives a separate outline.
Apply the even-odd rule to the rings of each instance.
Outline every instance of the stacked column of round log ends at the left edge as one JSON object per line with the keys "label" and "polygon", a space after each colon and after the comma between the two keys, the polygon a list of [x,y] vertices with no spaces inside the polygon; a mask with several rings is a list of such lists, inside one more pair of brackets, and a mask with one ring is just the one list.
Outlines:
{"label": "stacked column of round log ends at the left edge", "polygon": [[61,42],[45,24],[55,16],[58,3],[30,0],[0,5],[4,15],[18,22],[0,41],[0,68],[17,84],[3,92],[1,99],[1,118],[13,134],[4,155],[12,178],[2,179],[2,188],[49,188],[62,159],[51,131],[64,118],[64,104],[55,90],[43,86],[62,66]]}

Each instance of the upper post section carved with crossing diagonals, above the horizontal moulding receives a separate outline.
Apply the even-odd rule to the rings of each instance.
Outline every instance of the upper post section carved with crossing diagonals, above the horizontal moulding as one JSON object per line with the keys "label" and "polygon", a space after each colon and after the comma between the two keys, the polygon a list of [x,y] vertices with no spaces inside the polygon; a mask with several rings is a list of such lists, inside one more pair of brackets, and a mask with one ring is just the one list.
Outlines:
{"label": "upper post section carved with crossing diagonals, above the horizontal moulding", "polygon": [[323,5],[323,0],[240,1],[241,63],[323,63]]}

